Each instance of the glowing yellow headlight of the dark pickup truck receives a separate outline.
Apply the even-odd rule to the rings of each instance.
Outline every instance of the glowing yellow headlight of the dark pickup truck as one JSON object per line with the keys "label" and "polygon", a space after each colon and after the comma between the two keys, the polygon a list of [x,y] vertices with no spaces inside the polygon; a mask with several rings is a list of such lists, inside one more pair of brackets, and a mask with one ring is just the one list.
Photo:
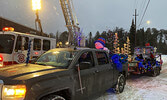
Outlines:
{"label": "glowing yellow headlight of the dark pickup truck", "polygon": [[25,85],[3,85],[2,100],[23,100],[26,94]]}

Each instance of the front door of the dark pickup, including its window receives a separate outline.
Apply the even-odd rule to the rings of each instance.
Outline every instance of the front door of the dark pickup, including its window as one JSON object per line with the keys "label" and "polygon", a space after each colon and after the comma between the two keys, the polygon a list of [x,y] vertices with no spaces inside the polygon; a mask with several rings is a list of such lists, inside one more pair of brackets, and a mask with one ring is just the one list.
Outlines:
{"label": "front door of the dark pickup, including its window", "polygon": [[[80,97],[87,100],[89,96],[93,95],[93,88],[96,84],[94,72],[96,70],[92,52],[84,52],[78,59],[79,71],[75,74],[75,95],[76,100],[80,100]],[[76,66],[76,67],[77,67]],[[80,74],[80,75],[79,75]]]}

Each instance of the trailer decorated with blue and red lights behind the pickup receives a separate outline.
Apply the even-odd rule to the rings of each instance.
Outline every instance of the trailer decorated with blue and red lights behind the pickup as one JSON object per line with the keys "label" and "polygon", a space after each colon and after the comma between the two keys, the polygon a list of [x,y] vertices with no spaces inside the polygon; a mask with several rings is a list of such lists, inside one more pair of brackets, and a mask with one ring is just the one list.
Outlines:
{"label": "trailer decorated with blue and red lights behind the pickup", "polygon": [[135,47],[132,60],[128,64],[129,73],[157,76],[162,67],[161,54],[153,46]]}

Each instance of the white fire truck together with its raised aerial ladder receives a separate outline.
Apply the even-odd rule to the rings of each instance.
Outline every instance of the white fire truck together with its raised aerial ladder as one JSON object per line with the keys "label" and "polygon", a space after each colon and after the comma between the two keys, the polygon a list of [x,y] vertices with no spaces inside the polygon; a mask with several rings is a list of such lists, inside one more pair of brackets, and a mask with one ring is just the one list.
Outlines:
{"label": "white fire truck together with its raised aerial ladder", "polygon": [[[69,46],[77,45],[77,37],[80,31],[78,22],[74,20],[70,0],[60,0],[61,8],[66,22],[66,27],[69,31],[68,43]],[[36,22],[42,32],[42,25],[39,17]],[[40,56],[49,49],[56,47],[56,40],[49,37],[31,35],[29,33],[15,32],[13,27],[4,27],[0,32],[0,67],[12,64],[24,63],[28,50],[28,42],[32,40],[30,60]],[[9,48],[9,49],[8,49]]]}

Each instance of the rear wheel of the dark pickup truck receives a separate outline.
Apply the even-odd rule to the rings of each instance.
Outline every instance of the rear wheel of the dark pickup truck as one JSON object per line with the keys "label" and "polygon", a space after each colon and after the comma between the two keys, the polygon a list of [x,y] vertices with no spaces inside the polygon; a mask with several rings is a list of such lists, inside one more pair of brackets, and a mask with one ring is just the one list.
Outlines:
{"label": "rear wheel of the dark pickup truck", "polygon": [[118,77],[118,80],[117,80],[117,84],[116,84],[116,87],[115,87],[115,92],[116,93],[122,93],[123,90],[124,90],[124,87],[125,87],[125,77],[123,74],[120,74],[119,77]]}

